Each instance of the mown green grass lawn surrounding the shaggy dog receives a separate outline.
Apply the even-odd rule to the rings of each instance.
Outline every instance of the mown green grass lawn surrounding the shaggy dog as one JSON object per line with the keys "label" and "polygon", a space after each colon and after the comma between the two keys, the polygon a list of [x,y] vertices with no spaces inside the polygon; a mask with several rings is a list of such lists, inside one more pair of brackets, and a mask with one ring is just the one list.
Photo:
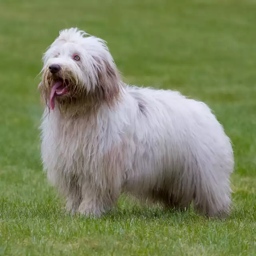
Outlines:
{"label": "mown green grass lawn surrounding the shaggy dog", "polygon": [[[104,38],[130,84],[206,102],[234,143],[226,220],[126,198],[70,216],[42,173],[37,84],[62,28]],[[0,255],[255,255],[256,0],[1,0]]]}

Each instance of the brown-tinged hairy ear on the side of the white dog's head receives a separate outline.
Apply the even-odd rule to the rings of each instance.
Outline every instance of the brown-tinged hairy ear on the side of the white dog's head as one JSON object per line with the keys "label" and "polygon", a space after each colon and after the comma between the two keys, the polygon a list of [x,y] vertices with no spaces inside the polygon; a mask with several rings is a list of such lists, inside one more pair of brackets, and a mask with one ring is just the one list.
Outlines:
{"label": "brown-tinged hairy ear on the side of the white dog's head", "polygon": [[97,75],[95,94],[97,100],[103,100],[111,106],[120,93],[120,74],[114,64],[110,64],[106,60],[101,60],[100,65],[97,66]]}

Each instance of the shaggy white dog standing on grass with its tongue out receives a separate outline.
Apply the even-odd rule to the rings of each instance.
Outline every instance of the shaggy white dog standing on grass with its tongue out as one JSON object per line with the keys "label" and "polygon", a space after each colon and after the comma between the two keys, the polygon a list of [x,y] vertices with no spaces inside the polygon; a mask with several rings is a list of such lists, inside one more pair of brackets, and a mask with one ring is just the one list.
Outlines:
{"label": "shaggy white dog standing on grass with its tongue out", "polygon": [[232,146],[206,104],[124,84],[105,42],[76,28],[43,61],[42,161],[67,210],[100,216],[125,191],[229,212]]}

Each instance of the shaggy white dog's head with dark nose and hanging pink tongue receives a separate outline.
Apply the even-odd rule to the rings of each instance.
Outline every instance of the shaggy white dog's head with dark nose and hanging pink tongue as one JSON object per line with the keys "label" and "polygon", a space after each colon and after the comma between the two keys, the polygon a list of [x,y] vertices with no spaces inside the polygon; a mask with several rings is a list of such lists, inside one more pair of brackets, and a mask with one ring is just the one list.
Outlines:
{"label": "shaggy white dog's head with dark nose and hanging pink tongue", "polygon": [[119,74],[105,42],[76,28],[60,31],[43,56],[39,88],[54,109],[112,104],[118,98]]}

